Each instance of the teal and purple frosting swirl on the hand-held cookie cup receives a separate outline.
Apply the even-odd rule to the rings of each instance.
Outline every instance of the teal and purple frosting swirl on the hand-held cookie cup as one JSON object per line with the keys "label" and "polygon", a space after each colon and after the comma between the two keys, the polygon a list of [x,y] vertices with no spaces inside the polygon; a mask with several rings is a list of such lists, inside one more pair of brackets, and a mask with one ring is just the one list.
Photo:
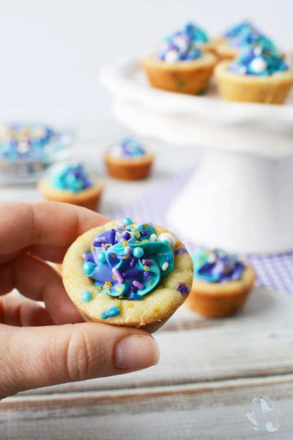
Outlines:
{"label": "teal and purple frosting swirl on the hand-held cookie cup", "polygon": [[131,224],[127,217],[95,237],[90,252],[83,255],[83,271],[101,292],[141,300],[173,271],[174,253],[152,225]]}

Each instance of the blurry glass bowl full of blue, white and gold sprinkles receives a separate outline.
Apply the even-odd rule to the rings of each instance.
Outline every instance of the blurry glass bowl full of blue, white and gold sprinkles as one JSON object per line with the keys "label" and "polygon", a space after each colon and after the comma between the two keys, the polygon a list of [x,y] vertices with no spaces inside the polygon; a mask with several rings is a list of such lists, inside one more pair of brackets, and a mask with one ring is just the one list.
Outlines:
{"label": "blurry glass bowl full of blue, white and gold sprinkles", "polygon": [[0,180],[34,183],[48,167],[71,156],[72,132],[40,123],[0,124]]}

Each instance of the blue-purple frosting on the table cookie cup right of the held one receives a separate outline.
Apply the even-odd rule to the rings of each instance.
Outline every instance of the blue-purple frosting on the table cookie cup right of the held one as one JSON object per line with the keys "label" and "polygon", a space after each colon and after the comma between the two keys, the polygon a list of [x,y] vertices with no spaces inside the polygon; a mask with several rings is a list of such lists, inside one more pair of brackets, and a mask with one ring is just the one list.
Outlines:
{"label": "blue-purple frosting on the table cookie cup right of the held one", "polygon": [[237,281],[245,269],[237,255],[229,255],[223,249],[201,249],[192,256],[194,278],[206,282]]}

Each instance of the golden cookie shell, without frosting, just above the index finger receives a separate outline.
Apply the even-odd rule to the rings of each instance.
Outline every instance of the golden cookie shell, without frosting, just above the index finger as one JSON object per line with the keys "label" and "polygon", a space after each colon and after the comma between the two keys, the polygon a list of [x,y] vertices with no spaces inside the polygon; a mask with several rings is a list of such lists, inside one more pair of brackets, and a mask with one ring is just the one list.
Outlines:
{"label": "golden cookie shell, without frosting, just above the index finger", "polygon": [[50,180],[45,178],[40,180],[37,188],[46,200],[71,203],[72,205],[83,206],[95,211],[100,202],[104,184],[97,178],[93,179],[93,182],[94,185],[92,187],[73,193],[52,187]]}

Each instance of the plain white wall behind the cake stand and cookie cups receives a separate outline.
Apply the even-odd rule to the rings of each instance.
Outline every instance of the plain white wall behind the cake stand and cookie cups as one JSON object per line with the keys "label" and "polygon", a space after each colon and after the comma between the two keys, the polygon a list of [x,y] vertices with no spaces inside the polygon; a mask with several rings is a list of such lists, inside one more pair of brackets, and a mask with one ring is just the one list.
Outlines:
{"label": "plain white wall behind the cake stand and cookie cups", "polygon": [[216,35],[246,17],[293,48],[292,0],[0,0],[0,119],[109,120],[104,63],[144,54],[187,20]]}

